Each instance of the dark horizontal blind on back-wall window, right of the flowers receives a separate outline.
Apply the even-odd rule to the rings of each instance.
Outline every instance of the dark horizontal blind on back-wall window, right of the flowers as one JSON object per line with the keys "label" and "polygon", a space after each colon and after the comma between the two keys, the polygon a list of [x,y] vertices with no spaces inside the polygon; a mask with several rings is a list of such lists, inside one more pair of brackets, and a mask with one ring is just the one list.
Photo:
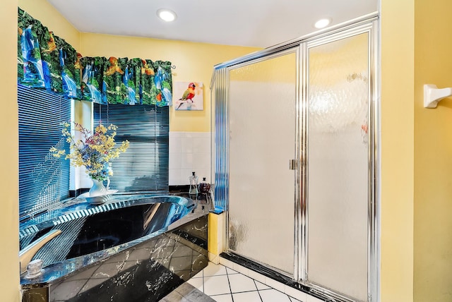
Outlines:
{"label": "dark horizontal blind on back-wall window, right of the flowers", "polygon": [[116,143],[129,149],[112,161],[110,188],[119,192],[168,190],[169,107],[93,103],[94,127],[117,126]]}

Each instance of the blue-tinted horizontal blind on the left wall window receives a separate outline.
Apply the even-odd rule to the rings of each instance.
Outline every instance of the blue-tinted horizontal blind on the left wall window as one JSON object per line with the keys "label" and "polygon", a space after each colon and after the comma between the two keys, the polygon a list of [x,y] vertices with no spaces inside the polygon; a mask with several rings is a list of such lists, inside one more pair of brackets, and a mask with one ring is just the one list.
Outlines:
{"label": "blue-tinted horizontal blind on the left wall window", "polygon": [[49,210],[69,197],[69,160],[53,157],[56,146],[69,152],[61,123],[71,119],[71,100],[18,85],[19,217]]}

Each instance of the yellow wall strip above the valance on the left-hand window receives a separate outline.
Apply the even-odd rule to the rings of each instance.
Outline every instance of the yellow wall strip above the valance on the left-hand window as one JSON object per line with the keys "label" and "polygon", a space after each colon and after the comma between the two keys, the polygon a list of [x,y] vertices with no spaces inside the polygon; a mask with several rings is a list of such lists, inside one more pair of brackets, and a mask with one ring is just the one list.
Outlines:
{"label": "yellow wall strip above the valance on the left-hand window", "polygon": [[80,48],[80,32],[49,2],[46,0],[18,0],[17,5],[33,18],[40,20],[42,25],[52,30],[54,35],[66,40],[73,48],[76,50]]}

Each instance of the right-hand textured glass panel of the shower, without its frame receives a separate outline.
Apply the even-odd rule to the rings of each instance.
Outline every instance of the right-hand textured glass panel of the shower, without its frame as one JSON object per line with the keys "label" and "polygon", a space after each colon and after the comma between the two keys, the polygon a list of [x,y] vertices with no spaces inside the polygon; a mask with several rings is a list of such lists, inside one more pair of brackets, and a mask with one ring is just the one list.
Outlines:
{"label": "right-hand textured glass panel of the shower, without its frame", "polygon": [[308,280],[367,301],[368,34],[309,49]]}

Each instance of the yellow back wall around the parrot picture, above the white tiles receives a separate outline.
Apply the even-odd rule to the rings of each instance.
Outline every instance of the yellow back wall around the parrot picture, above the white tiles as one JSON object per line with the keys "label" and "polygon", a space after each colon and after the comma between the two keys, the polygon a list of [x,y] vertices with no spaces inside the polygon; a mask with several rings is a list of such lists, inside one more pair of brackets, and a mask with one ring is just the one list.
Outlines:
{"label": "yellow back wall around the parrot picture, above the white tiles", "polygon": [[[213,66],[259,50],[253,47],[225,46],[206,43],[158,40],[142,37],[121,37],[82,33],[83,56],[139,57],[153,61],[171,61],[173,83],[203,82],[204,110],[169,110],[169,130],[189,132],[210,131],[210,78]],[[173,98],[177,97],[176,95]]]}

